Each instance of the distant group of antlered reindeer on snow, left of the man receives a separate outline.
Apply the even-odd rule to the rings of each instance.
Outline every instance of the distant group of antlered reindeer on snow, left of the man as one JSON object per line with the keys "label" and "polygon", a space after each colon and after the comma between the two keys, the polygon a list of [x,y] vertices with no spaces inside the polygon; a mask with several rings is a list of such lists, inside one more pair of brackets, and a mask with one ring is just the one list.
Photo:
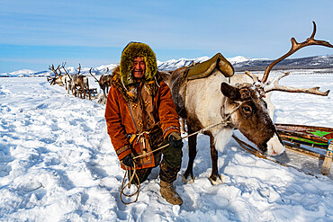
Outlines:
{"label": "distant group of antlered reindeer on snow, left of the man", "polygon": [[[58,65],[57,68],[49,66],[49,70],[51,70],[55,76],[48,76],[47,80],[49,84],[59,84],[61,86],[65,85],[67,93],[72,93],[74,96],[85,99],[85,94],[87,93],[89,96],[89,100],[92,99],[92,94],[97,93],[96,89],[89,88],[88,77],[85,75],[81,75],[81,65],[77,68],[77,73],[75,75],[69,75],[66,69],[66,62],[63,63],[60,67]],[[65,72],[64,74],[61,72],[61,69]],[[109,87],[111,86],[112,74],[108,74],[109,68],[106,69],[106,72],[101,75],[98,80],[93,74],[92,69],[90,68],[89,73],[94,77],[94,80],[99,84],[101,89],[103,90],[103,97],[106,98],[106,94],[109,91]],[[103,100],[102,100],[103,101]],[[101,102],[102,102],[101,101]]]}

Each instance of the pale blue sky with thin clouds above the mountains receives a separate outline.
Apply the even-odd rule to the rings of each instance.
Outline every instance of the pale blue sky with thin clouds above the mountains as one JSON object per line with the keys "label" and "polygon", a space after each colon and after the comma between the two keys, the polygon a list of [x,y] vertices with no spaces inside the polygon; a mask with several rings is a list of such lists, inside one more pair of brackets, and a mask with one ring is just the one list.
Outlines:
{"label": "pale blue sky with thin clouds above the mountains", "polygon": [[[0,73],[50,64],[97,67],[120,62],[130,40],[157,60],[211,57],[279,58],[310,37],[333,41],[332,0],[112,1],[0,0]],[[293,58],[332,55],[311,46]]]}

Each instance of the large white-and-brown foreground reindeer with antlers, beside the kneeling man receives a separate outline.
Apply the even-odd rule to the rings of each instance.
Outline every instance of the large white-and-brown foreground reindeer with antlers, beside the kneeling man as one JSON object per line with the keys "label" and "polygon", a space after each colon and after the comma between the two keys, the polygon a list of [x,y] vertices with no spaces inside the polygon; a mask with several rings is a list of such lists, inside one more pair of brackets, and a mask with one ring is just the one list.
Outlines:
{"label": "large white-and-brown foreground reindeer with antlers, beside the kneeling man", "polygon": [[[212,184],[222,182],[218,173],[218,151],[222,151],[232,136],[232,130],[238,129],[247,139],[257,145],[260,152],[268,155],[280,155],[284,152],[282,140],[278,137],[273,120],[270,118],[267,105],[264,101],[265,94],[272,91],[284,91],[290,93],[312,93],[328,95],[320,92],[319,87],[311,89],[286,87],[278,84],[278,81],[288,73],[277,76],[272,82],[267,81],[272,67],[284,58],[292,55],[296,50],[310,45],[322,45],[333,48],[329,42],[314,40],[316,24],[311,38],[302,43],[292,39],[292,49],[283,57],[276,59],[266,67],[263,78],[246,75],[253,79],[253,84],[238,82],[238,75],[228,79],[215,67],[211,75],[201,79],[186,80],[185,67],[176,69],[169,81],[172,97],[176,110],[181,118],[186,120],[188,134],[207,129],[205,135],[210,137],[211,147],[211,176]],[[198,90],[200,89],[200,90]],[[184,173],[184,182],[190,182],[193,177],[193,161],[196,155],[196,138],[194,135],[188,138],[189,162]]]}

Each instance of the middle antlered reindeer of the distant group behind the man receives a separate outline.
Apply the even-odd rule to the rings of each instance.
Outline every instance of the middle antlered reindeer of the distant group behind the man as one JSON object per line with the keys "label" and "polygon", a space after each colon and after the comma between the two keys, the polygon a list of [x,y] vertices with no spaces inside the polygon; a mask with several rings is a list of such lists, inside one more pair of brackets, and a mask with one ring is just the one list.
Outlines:
{"label": "middle antlered reindeer of the distant group behind the man", "polygon": [[[67,73],[65,65],[66,65],[66,63],[63,64],[62,67],[65,70],[67,76],[70,78],[70,88],[71,88],[71,91],[74,94],[74,96],[77,97],[77,95],[78,95],[80,98],[85,99],[85,93],[88,93],[89,94],[89,100],[91,100],[91,94],[89,92],[88,77],[86,77],[85,75],[80,75],[81,64],[79,64],[79,67],[77,68],[78,69],[77,74],[75,74],[73,76],[70,76]],[[82,93],[83,93],[83,96],[82,96]]]}

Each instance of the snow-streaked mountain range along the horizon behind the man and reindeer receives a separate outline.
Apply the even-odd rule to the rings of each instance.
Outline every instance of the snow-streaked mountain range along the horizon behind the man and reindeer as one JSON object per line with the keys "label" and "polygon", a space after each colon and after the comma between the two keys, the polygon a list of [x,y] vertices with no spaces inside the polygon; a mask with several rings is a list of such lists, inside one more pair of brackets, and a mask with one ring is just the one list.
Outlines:
{"label": "snow-streaked mountain range along the horizon behind the man and reindeer", "polygon": [[[165,62],[157,61],[157,67],[159,70],[171,71],[178,67],[189,66],[191,63],[203,62],[209,59],[209,57],[202,58],[180,58],[171,59]],[[267,58],[245,58],[235,57],[227,58],[229,62],[235,67],[235,71],[263,71],[274,60]],[[102,75],[106,72],[106,68],[109,67],[112,70],[117,64],[110,64],[101,67],[94,67],[92,73],[94,75]],[[333,55],[317,56],[308,58],[289,58],[284,59],[273,69],[313,69],[313,68],[333,68]],[[89,75],[89,67],[81,69],[81,74]],[[75,67],[67,67],[67,72],[71,75],[76,74]],[[111,71],[110,71],[111,72]],[[54,75],[51,71],[36,72],[30,69],[23,69],[12,73],[0,74],[0,77],[25,77],[25,76],[51,76]]]}

